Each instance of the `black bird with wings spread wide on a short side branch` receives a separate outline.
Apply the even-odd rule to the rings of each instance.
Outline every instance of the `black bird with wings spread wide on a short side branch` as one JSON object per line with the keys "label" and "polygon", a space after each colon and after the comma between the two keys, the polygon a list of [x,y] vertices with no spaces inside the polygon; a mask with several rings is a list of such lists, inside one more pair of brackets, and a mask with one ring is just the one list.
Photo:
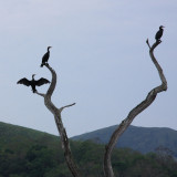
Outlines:
{"label": "black bird with wings spread wide on a short side branch", "polygon": [[25,86],[31,86],[33,93],[35,93],[37,92],[35,86],[41,86],[43,84],[50,83],[50,81],[48,81],[46,79],[43,79],[43,77],[41,77],[40,80],[35,81],[34,80],[34,75],[35,74],[32,74],[32,80],[31,81],[29,81],[28,79],[23,77],[20,81],[18,81],[17,84],[23,84]]}

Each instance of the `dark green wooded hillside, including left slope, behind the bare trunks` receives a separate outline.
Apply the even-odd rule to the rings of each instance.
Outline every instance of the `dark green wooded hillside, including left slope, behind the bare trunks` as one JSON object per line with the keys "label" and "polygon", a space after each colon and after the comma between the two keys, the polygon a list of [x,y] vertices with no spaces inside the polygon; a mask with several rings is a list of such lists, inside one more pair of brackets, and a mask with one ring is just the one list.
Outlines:
{"label": "dark green wooded hillside, including left slope, behind the bare trunks", "polygon": [[[103,145],[71,142],[71,148],[83,177],[103,177]],[[116,149],[113,167],[116,177],[177,177],[177,164],[166,152]],[[0,177],[71,177],[59,137],[0,123]]]}

